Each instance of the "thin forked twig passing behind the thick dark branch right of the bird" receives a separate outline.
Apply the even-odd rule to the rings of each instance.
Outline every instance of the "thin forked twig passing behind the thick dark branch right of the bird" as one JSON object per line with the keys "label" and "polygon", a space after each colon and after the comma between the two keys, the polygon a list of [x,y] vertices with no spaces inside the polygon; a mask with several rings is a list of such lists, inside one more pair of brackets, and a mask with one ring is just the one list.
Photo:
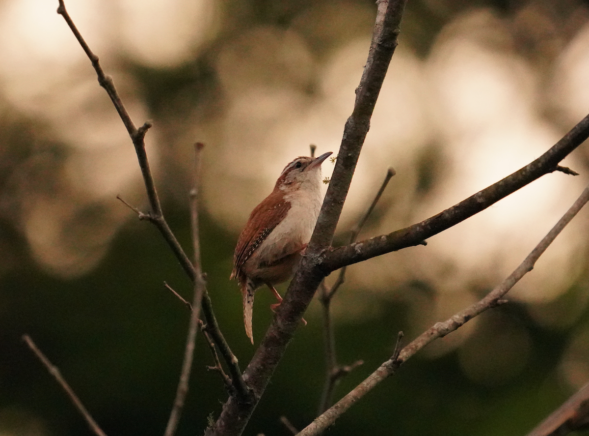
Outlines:
{"label": "thin forked twig passing behind the thick dark branch right of the bird", "polygon": [[[392,176],[395,175],[395,170],[393,168],[389,168],[386,171],[385,179],[380,185],[378,192],[376,193],[375,198],[373,199],[372,203],[370,204],[368,210],[363,215],[362,219],[358,222],[355,228],[353,228],[350,234],[349,244],[356,242],[356,238],[358,238],[358,234],[362,231],[362,228],[368,221],[370,214],[376,207],[380,196],[382,193],[385,192],[386,185],[389,184],[391,181]],[[331,300],[335,295],[336,291],[339,289],[340,286],[345,281],[346,276],[346,267],[343,267],[339,270],[339,275],[333,286],[327,290],[327,286],[325,286],[325,280],[323,280],[319,286],[320,289],[320,301],[323,306],[323,348],[325,349],[325,382],[323,383],[323,392],[321,394],[321,401],[319,402],[319,409],[317,415],[321,415],[323,412],[330,407],[332,402],[332,394],[333,390],[337,386],[340,378],[345,376],[349,373],[349,371],[342,371],[343,368],[350,368],[350,366],[343,366],[340,367],[337,363],[337,353],[335,350],[335,336],[333,334],[333,327],[331,322],[331,313],[330,313],[330,306]],[[359,360],[359,362],[362,362]],[[356,362],[357,363],[357,362]],[[360,363],[361,364],[361,363]],[[359,365],[352,365],[352,369],[356,368]]]}

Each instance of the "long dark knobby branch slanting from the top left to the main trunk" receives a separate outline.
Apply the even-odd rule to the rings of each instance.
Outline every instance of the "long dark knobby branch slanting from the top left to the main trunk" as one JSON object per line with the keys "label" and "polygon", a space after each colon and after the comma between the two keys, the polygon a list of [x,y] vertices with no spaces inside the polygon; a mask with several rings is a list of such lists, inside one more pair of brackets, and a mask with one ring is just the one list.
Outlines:
{"label": "long dark knobby branch slanting from the top left to the main trunk", "polygon": [[[151,123],[145,122],[143,126],[139,129],[135,128],[135,124],[131,117],[127,113],[123,102],[121,101],[116,88],[114,87],[114,83],[112,82],[112,78],[104,74],[100,63],[98,62],[98,56],[92,53],[88,44],[82,38],[82,35],[76,28],[74,22],[70,18],[67,10],[65,9],[65,4],[63,0],[59,1],[59,7],[57,8],[57,13],[64,17],[65,22],[70,26],[71,31],[74,33],[78,42],[84,49],[85,53],[90,58],[92,63],[92,67],[96,71],[98,76],[98,83],[102,86],[106,91],[108,96],[110,97],[112,104],[114,104],[115,109],[117,110],[121,120],[123,120],[123,124],[127,128],[127,132],[133,141],[133,146],[135,147],[135,153],[137,153],[137,160],[139,162],[139,166],[141,168],[141,175],[143,175],[143,181],[145,183],[145,190],[147,191],[147,198],[150,202],[151,206],[151,213],[150,214],[142,214],[142,212],[137,211],[139,217],[142,216],[148,217],[148,219],[157,227],[160,231],[161,235],[163,236],[164,240],[166,240],[167,244],[170,246],[171,250],[173,251],[174,255],[176,255],[177,260],[180,262],[181,267],[186,272],[190,280],[193,282],[196,280],[196,273],[194,272],[194,268],[190,259],[184,253],[180,243],[174,236],[174,233],[171,231],[170,226],[168,225],[166,219],[164,219],[163,211],[161,209],[160,199],[157,195],[157,191],[155,189],[155,183],[153,180],[153,175],[151,175],[151,170],[149,166],[149,162],[147,160],[147,153],[145,153],[145,142],[144,137],[147,130],[151,127]],[[134,209],[134,208],[132,208]],[[135,210],[135,209],[134,209]],[[217,319],[213,312],[213,305],[211,304],[211,300],[209,297],[209,293],[207,293],[206,289],[203,290],[203,301],[202,301],[202,310],[204,316],[207,319],[207,325],[209,325],[210,335],[219,346],[219,350],[221,355],[223,355],[223,359],[227,362],[227,365],[230,368],[231,376],[233,380],[236,382],[236,394],[239,396],[240,401],[247,401],[249,398],[249,390],[243,381],[243,377],[241,375],[241,369],[239,368],[239,362],[236,356],[231,352],[229,348],[229,344],[225,340],[223,333],[219,329],[219,324],[217,323]]]}

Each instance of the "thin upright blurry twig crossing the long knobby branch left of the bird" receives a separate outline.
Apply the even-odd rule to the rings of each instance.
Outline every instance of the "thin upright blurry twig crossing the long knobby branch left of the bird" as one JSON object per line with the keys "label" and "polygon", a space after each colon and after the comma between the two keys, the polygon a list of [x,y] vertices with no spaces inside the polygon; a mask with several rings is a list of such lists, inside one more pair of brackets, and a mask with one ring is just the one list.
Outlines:
{"label": "thin upright blurry twig crossing the long knobby branch left of the bird", "polygon": [[192,302],[192,312],[190,314],[190,323],[188,325],[188,334],[186,335],[186,348],[184,349],[184,361],[180,373],[180,381],[176,389],[176,398],[174,406],[168,419],[166,432],[164,436],[173,436],[178,428],[178,421],[184,408],[184,401],[188,394],[188,382],[192,371],[192,361],[194,358],[194,342],[196,341],[196,332],[198,331],[198,317],[200,316],[200,307],[203,301],[203,291],[205,287],[203,271],[200,262],[200,235],[198,232],[198,188],[200,186],[200,152],[204,145],[200,142],[194,146],[194,181],[190,190],[190,221],[192,227],[192,242],[194,248],[194,298]]}

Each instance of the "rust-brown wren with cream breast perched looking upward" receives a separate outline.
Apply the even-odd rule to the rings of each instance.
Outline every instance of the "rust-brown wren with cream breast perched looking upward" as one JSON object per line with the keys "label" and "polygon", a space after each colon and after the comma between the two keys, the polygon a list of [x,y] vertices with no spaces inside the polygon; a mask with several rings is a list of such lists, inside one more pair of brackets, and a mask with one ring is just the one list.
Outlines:
{"label": "rust-brown wren with cream breast perched looking upward", "polygon": [[274,285],[292,276],[311,239],[322,203],[321,164],[330,154],[302,156],[284,167],[272,194],[253,209],[239,235],[230,278],[239,281],[243,321],[252,343],[254,292],[266,284],[278,299],[272,309],[282,301]]}

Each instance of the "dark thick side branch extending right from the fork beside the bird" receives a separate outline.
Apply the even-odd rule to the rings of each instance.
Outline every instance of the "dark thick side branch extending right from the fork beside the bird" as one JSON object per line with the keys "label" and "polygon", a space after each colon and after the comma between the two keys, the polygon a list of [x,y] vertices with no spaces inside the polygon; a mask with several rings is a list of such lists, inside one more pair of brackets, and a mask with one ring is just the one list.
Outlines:
{"label": "dark thick side branch extending right from the fork beside the bird", "polygon": [[325,274],[329,274],[331,271],[335,271],[345,265],[351,265],[372,257],[391,253],[391,251],[401,250],[401,248],[422,244],[427,238],[464,221],[466,218],[472,217],[472,215],[478,214],[478,212],[481,212],[541,176],[553,171],[562,171],[563,167],[558,165],[558,163],[580,146],[587,137],[589,137],[589,115],[573,127],[567,135],[563,136],[560,141],[540,156],[540,158],[501,181],[477,192],[477,194],[469,196],[469,198],[466,198],[451,208],[434,215],[434,217],[394,231],[388,235],[381,235],[365,241],[345,245],[345,247],[332,249],[323,258],[322,268]]}

